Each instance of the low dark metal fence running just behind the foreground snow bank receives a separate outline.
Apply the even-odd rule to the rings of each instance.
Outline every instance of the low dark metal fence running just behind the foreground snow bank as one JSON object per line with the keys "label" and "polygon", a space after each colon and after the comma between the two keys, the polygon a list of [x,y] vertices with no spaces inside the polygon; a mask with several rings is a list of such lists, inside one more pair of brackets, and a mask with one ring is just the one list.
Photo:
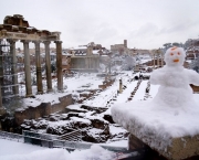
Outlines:
{"label": "low dark metal fence running just behind the foreground snow bank", "polygon": [[[74,134],[75,131],[73,131]],[[69,135],[65,135],[67,137]],[[61,136],[49,135],[49,134],[39,134],[33,131],[23,130],[23,135],[0,131],[0,137],[11,140],[18,140],[21,142],[38,145],[48,148],[65,148],[67,150],[84,150],[90,149],[92,142],[80,142],[80,141],[67,141],[67,140],[60,140]],[[96,143],[95,143],[96,145]],[[127,149],[124,147],[114,147],[114,146],[105,146],[100,145],[104,149],[115,152],[126,152]]]}

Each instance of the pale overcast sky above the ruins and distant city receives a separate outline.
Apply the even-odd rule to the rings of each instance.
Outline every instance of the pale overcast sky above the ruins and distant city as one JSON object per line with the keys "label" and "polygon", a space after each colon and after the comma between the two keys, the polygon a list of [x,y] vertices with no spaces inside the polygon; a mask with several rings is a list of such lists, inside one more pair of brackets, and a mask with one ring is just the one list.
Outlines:
{"label": "pale overcast sky above the ruins and distant city", "polygon": [[109,49],[157,49],[199,35],[199,0],[1,0],[6,15],[22,14],[31,26],[60,31],[63,47],[95,42]]}

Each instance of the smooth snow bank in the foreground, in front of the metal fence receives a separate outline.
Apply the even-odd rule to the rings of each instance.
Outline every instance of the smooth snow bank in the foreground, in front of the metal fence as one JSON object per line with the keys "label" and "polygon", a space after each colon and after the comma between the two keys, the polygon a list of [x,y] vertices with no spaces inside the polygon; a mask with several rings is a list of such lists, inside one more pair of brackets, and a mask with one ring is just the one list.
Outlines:
{"label": "smooth snow bank in the foreground, in front of the metal fence", "polygon": [[113,160],[117,156],[98,145],[87,150],[69,152],[65,149],[49,149],[39,146],[0,139],[0,160]]}

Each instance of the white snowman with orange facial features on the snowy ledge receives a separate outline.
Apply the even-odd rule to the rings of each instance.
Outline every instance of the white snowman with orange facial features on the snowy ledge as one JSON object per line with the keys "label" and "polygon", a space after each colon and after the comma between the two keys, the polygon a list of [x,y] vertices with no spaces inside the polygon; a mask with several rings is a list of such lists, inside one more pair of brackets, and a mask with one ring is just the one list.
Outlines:
{"label": "white snowman with orange facial features on the snowy ledge", "polygon": [[150,84],[159,85],[153,104],[155,108],[175,108],[185,111],[199,107],[193,100],[190,84],[199,86],[199,74],[185,68],[185,51],[182,47],[170,47],[166,51],[163,68],[156,70],[150,75]]}

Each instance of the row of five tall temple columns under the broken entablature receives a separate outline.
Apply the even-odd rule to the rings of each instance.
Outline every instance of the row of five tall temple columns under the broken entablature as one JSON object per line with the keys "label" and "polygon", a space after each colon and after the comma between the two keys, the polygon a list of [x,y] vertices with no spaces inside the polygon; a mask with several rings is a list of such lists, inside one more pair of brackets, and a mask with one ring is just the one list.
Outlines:
{"label": "row of five tall temple columns under the broken entablature", "polygon": [[[13,84],[18,84],[18,73],[17,73],[17,56],[15,56],[15,42],[17,40],[8,40],[10,43],[10,52],[12,56],[12,74]],[[24,50],[24,75],[25,75],[25,89],[27,97],[32,96],[31,86],[31,70],[30,70],[30,53],[29,53],[29,40],[22,40]],[[36,86],[38,94],[43,94],[42,86],[42,72],[41,72],[41,57],[40,57],[40,43],[41,41],[33,41],[35,45],[35,66],[36,66]],[[46,71],[46,86],[48,93],[52,92],[52,77],[51,77],[51,57],[50,57],[50,41],[44,41],[45,46],[45,71]],[[63,75],[62,75],[62,41],[54,41],[56,44],[56,76],[57,76],[57,90],[63,90]],[[19,94],[19,86],[13,87],[13,93]]]}

